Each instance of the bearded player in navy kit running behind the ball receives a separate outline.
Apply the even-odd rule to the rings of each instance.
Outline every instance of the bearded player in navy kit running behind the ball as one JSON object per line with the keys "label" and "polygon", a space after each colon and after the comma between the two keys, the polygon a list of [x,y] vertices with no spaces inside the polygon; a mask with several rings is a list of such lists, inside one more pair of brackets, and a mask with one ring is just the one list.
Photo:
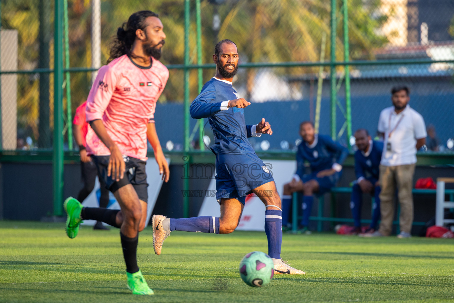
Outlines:
{"label": "bearded player in navy kit running behind the ball", "polygon": [[214,134],[211,150],[216,154],[216,199],[221,205],[221,216],[170,219],[153,215],[153,248],[159,255],[163,241],[174,230],[232,233],[240,221],[246,195],[254,193],[265,204],[268,254],[273,259],[275,273],[304,274],[281,258],[281,199],[272,174],[247,139],[271,135],[272,130],[264,118],[258,124],[245,123],[244,108],[251,103],[238,99],[232,87],[238,58],[237,45],[231,40],[222,40],[216,45],[213,55],[216,75],[205,83],[190,107],[192,118],[208,118]]}

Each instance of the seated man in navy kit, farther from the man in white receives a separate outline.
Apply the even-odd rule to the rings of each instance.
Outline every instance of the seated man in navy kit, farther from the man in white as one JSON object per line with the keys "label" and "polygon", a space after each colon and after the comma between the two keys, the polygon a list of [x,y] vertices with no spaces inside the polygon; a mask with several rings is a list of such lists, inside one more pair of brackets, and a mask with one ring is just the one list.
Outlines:
{"label": "seated man in navy kit, farther from the man in white", "polygon": [[[290,183],[284,185],[282,196],[282,224],[288,223],[291,204],[291,194],[302,192],[301,207],[303,219],[301,233],[311,233],[309,230],[309,216],[311,215],[313,194],[325,194],[336,185],[341,176],[342,164],[348,155],[348,149],[334,142],[331,137],[315,134],[314,125],[310,121],[300,124],[300,135],[303,139],[296,152],[296,173]],[[309,162],[311,173],[305,174],[304,162]]]}

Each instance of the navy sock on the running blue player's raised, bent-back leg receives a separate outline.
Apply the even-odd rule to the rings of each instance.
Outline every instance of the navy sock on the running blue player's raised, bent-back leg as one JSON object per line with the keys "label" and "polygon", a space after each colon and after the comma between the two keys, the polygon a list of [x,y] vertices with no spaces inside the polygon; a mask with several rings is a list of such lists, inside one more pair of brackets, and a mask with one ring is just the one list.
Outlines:
{"label": "navy sock on the running blue player's raised, bent-back leg", "polygon": [[202,216],[184,219],[170,219],[170,231],[219,233],[219,218]]}

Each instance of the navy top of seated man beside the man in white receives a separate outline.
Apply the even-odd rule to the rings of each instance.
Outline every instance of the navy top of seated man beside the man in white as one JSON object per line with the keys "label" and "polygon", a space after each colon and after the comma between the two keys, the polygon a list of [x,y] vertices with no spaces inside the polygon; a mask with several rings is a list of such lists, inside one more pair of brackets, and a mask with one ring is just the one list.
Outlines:
{"label": "navy top of seated man beside the man in white", "polygon": [[383,142],[372,141],[369,154],[364,154],[362,151],[355,152],[355,174],[356,179],[374,178],[378,180],[379,166],[381,160],[381,153],[383,152]]}

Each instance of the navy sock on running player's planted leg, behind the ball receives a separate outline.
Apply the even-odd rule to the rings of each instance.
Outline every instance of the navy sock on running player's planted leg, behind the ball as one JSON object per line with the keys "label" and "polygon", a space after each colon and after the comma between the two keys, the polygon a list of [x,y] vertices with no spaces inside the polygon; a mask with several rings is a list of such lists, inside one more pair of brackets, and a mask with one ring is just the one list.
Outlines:
{"label": "navy sock on running player's planted leg, behind the ball", "polygon": [[282,211],[266,209],[265,233],[268,239],[268,255],[274,259],[281,258],[282,245]]}

